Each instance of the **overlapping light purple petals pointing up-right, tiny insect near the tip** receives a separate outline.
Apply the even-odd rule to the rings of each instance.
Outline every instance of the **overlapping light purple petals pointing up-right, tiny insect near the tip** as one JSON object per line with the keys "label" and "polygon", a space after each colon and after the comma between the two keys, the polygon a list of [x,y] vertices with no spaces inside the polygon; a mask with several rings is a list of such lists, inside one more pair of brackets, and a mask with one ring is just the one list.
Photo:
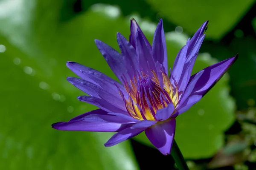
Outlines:
{"label": "overlapping light purple petals pointing up-right, tiny insect near the tip", "polygon": [[205,37],[204,31],[207,24],[208,21],[198,29],[191,40],[187,41],[175,59],[172,73],[178,84],[180,94],[182,94],[189,82],[198,51]]}

